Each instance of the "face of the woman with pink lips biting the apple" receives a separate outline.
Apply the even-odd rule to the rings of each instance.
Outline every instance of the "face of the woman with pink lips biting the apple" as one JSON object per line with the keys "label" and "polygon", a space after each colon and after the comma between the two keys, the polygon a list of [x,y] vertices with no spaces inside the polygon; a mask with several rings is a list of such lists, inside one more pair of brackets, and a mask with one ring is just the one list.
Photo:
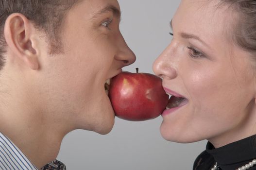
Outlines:
{"label": "face of the woman with pink lips biting the apple", "polygon": [[170,100],[162,136],[203,139],[220,147],[253,135],[256,116],[252,57],[232,41],[236,13],[219,0],[182,0],[171,21],[171,44],[154,62]]}

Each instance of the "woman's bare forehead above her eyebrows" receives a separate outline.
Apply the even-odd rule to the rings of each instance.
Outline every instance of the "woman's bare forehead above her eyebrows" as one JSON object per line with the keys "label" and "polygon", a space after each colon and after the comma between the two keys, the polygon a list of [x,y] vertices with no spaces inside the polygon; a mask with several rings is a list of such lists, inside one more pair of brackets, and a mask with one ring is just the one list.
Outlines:
{"label": "woman's bare forehead above her eyebrows", "polygon": [[237,15],[232,8],[219,4],[219,0],[182,0],[172,20],[173,29],[177,27],[179,32],[205,38],[228,38],[234,30]]}

